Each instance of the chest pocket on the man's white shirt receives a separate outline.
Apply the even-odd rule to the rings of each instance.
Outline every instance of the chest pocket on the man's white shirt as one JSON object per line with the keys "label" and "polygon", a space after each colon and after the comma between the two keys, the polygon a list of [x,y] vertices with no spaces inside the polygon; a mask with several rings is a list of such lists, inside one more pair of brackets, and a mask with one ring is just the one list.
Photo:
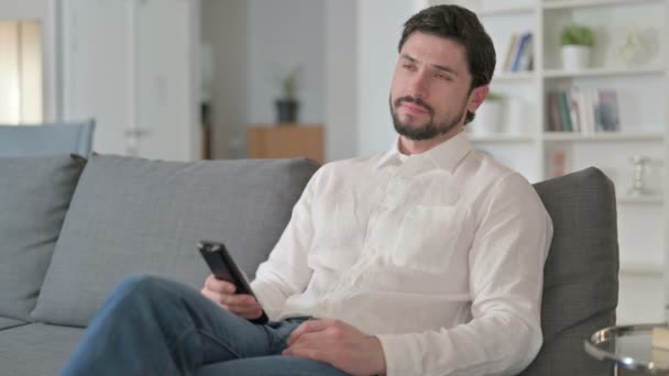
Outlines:
{"label": "chest pocket on the man's white shirt", "polygon": [[461,207],[415,206],[402,220],[390,258],[395,266],[430,274],[448,272],[453,256],[464,254],[471,225]]}

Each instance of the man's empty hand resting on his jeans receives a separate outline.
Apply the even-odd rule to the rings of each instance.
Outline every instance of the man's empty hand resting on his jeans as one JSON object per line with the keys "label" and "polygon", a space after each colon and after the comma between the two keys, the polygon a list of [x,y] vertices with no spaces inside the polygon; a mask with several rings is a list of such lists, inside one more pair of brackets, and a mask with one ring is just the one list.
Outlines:
{"label": "man's empty hand resting on his jeans", "polygon": [[339,320],[309,320],[288,338],[284,355],[327,363],[351,375],[385,374],[381,342]]}

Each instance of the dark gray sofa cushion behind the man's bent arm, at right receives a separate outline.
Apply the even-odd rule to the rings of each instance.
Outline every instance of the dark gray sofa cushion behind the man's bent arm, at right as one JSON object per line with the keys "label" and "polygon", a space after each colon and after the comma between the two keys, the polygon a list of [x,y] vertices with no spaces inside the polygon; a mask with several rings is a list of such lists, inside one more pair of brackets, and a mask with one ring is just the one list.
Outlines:
{"label": "dark gray sofa cushion behind the man's bent arm, at right", "polygon": [[589,356],[583,341],[615,324],[618,242],[613,184],[590,167],[538,183],[535,189],[555,231],[544,268],[544,345],[522,375],[610,375],[610,365]]}

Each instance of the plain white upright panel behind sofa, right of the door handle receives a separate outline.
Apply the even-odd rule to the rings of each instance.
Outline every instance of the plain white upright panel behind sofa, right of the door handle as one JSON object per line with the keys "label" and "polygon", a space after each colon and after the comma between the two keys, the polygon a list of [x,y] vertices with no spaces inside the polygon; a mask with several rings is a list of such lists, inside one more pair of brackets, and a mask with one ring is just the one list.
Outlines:
{"label": "plain white upright panel behind sofa, right of the door handle", "polygon": [[199,123],[199,1],[152,0],[136,8],[136,126],[149,134],[140,153],[201,158]]}

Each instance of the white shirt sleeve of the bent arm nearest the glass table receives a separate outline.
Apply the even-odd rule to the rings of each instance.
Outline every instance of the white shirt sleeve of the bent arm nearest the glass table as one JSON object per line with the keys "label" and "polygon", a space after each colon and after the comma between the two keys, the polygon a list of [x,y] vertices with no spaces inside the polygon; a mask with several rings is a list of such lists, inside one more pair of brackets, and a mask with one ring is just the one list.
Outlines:
{"label": "white shirt sleeve of the bent arm nearest the glass table", "polygon": [[377,335],[388,376],[516,375],[537,355],[550,217],[529,183],[512,174],[492,190],[478,224],[469,253],[472,320]]}

